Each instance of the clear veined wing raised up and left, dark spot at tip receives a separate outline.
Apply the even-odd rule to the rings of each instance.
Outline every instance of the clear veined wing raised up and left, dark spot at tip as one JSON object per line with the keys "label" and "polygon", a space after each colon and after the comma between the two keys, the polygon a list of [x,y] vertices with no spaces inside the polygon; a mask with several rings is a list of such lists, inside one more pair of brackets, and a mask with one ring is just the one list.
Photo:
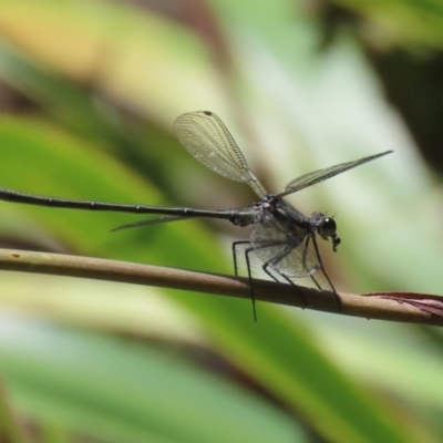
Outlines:
{"label": "clear veined wing raised up and left, dark spot at tip", "polygon": [[217,115],[209,111],[189,112],[175,121],[174,128],[181,143],[198,162],[227,178],[247,183],[259,197],[266,195],[237,143]]}

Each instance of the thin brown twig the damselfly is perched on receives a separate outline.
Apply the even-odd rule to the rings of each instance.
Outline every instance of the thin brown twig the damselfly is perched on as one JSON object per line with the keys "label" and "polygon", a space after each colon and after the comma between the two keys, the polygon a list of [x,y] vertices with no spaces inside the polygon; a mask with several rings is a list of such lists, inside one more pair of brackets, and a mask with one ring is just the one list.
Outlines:
{"label": "thin brown twig the damselfly is perched on", "polygon": [[[247,278],[101,258],[0,249],[0,269],[250,298],[250,288]],[[435,296],[404,293],[399,296],[395,292],[370,295],[339,292],[342,309],[338,311],[337,300],[331,291],[319,291],[305,287],[296,288],[291,285],[274,281],[254,280],[255,297],[261,301],[303,307],[300,291],[303,298],[309,300],[308,309],[368,319],[443,326],[443,317],[423,311],[418,307],[424,302],[423,300],[430,298],[437,302],[439,298]],[[408,302],[408,299],[419,300],[415,302],[418,306]]]}

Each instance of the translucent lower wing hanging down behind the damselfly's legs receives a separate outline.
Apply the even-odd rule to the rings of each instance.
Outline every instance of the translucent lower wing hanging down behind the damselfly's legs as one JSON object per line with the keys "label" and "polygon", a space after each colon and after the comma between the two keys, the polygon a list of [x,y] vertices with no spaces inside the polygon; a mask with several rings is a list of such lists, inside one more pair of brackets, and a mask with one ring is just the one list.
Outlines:
{"label": "translucent lower wing hanging down behind the damselfly's legs", "polygon": [[303,229],[290,233],[274,217],[258,225],[250,236],[257,256],[289,279],[311,276],[321,269],[316,256],[306,247],[306,239]]}

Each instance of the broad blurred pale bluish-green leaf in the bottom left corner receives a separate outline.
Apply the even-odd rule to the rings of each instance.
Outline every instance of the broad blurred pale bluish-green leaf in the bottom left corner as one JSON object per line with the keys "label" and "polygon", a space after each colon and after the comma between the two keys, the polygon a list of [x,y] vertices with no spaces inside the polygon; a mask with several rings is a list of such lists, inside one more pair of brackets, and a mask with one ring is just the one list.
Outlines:
{"label": "broad blurred pale bluish-green leaf in the bottom left corner", "polygon": [[277,408],[173,354],[7,316],[1,323],[11,394],[52,426],[110,442],[307,441]]}

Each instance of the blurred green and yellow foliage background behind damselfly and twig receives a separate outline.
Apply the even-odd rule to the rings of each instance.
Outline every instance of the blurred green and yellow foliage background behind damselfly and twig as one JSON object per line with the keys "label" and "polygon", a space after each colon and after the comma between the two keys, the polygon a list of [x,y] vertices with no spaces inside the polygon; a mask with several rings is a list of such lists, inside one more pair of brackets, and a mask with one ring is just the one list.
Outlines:
{"label": "blurred green and yellow foliage background behind damselfly and twig", "polygon": [[[173,135],[197,110],[222,117],[270,192],[393,150],[290,202],[337,214],[342,245],[320,247],[338,290],[441,293],[442,49],[439,0],[2,0],[0,186],[249,205],[247,186]],[[111,233],[141,217],[0,207],[2,247],[205,271],[231,274],[230,244],[249,235],[205,220]],[[2,271],[2,432],[42,443],[442,441],[437,328],[266,303],[258,320],[248,300]]]}

